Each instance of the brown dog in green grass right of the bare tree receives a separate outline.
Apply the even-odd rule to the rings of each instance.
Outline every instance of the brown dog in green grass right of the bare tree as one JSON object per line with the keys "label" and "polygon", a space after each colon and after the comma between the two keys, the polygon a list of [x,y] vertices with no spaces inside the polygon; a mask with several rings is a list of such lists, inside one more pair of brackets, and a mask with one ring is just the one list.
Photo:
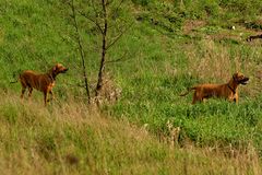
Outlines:
{"label": "brown dog in green grass right of the bare tree", "polygon": [[228,83],[225,84],[200,84],[193,88],[189,88],[188,92],[181,94],[180,96],[186,96],[191,90],[194,90],[193,102],[203,102],[205,98],[210,97],[221,97],[228,101],[238,102],[238,85],[246,85],[249,78],[245,77],[241,73],[234,73],[233,78]]}

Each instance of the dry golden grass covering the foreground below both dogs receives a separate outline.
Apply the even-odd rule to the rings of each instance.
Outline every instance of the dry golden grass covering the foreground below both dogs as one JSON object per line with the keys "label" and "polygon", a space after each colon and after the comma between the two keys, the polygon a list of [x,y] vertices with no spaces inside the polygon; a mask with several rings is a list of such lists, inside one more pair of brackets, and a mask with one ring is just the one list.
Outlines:
{"label": "dry golden grass covering the foreground below both dogs", "polygon": [[[0,171],[3,174],[254,174],[252,147],[219,149],[160,143],[146,128],[98,113],[82,102],[20,102],[1,93]],[[170,126],[169,126],[170,127]],[[169,128],[170,129],[170,128]],[[233,150],[231,150],[233,151]]]}

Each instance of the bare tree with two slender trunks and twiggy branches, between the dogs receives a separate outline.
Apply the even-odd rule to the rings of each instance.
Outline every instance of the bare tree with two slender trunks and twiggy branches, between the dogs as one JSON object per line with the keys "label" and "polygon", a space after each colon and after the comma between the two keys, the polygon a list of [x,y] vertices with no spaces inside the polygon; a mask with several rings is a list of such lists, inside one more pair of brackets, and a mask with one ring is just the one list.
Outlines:
{"label": "bare tree with two slender trunks and twiggy branches, between the dogs", "polygon": [[[88,102],[91,93],[85,66],[84,44],[92,44],[88,48],[98,48],[99,66],[97,82],[95,86],[95,96],[100,95],[103,79],[105,77],[105,67],[107,63],[123,60],[127,51],[118,59],[108,59],[109,49],[118,43],[123,34],[130,28],[132,22],[121,18],[126,13],[122,9],[124,0],[61,0],[64,4],[70,4],[71,18],[76,34],[78,48],[82,60],[83,78],[85,83]],[[126,0],[128,2],[128,0]],[[85,34],[85,35],[83,35]],[[94,40],[84,40],[83,38],[95,38]],[[93,43],[92,43],[93,42]],[[95,46],[95,47],[94,47]],[[97,47],[98,46],[98,47]]]}

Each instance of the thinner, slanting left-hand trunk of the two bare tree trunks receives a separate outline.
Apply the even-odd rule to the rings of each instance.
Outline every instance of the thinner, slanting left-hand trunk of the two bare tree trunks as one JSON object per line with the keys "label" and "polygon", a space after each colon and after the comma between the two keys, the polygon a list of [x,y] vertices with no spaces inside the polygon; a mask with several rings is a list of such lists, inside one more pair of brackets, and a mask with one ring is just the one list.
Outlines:
{"label": "thinner, slanting left-hand trunk of the two bare tree trunks", "polygon": [[82,70],[83,70],[83,77],[84,77],[84,83],[85,83],[85,92],[87,95],[87,102],[90,104],[91,101],[91,95],[90,95],[90,89],[88,89],[88,80],[87,80],[87,74],[86,74],[86,67],[85,67],[85,59],[84,59],[84,51],[83,51],[83,46],[81,43],[81,37],[80,37],[80,32],[79,32],[79,25],[76,22],[76,15],[75,15],[75,9],[74,9],[74,0],[71,0],[72,4],[72,12],[73,12],[73,21],[74,21],[74,27],[75,27],[75,32],[76,32],[76,39],[78,39],[78,44],[79,44],[79,50],[80,50],[80,56],[81,56],[81,60],[82,60]]}

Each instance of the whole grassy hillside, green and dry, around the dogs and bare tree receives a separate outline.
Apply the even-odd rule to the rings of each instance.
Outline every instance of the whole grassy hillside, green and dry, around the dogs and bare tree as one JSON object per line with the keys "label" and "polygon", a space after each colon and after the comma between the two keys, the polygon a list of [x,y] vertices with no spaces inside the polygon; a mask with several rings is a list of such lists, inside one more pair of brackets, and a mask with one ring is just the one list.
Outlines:
{"label": "whole grassy hillside, green and dry, around the dogs and bare tree", "polygon": [[[103,93],[109,103],[102,106],[103,114],[83,103],[72,28],[61,2],[0,2],[1,172],[261,172],[261,43],[245,42],[255,33],[246,27],[260,27],[260,1],[132,2],[136,22],[108,52],[117,60],[128,50],[127,61],[106,68],[110,77]],[[233,24],[235,31],[228,28]],[[91,34],[84,45],[94,44],[97,32],[81,20],[80,25],[86,28],[81,36]],[[98,50],[84,51],[93,80]],[[44,72],[55,62],[70,68],[53,89],[58,101],[44,108],[41,94],[34,93],[33,102],[21,103],[20,85],[9,84],[12,75],[25,69]],[[239,88],[239,104],[210,100],[191,105],[192,94],[179,96],[198,83],[225,83],[235,71],[250,77]]]}

